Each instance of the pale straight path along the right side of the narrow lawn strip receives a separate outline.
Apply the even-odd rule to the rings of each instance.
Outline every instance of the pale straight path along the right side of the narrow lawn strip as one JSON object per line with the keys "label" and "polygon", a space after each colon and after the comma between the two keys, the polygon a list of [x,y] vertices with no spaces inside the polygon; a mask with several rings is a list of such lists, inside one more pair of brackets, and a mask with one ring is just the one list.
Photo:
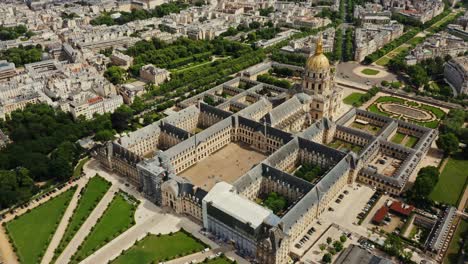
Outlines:
{"label": "pale straight path along the right side of the narrow lawn strip", "polygon": [[86,236],[89,234],[91,231],[91,228],[96,225],[99,217],[102,216],[104,211],[107,209],[108,205],[114,198],[115,193],[118,191],[118,188],[115,186],[111,186],[107,193],[102,197],[101,201],[98,203],[96,208],[91,212],[89,217],[86,219],[86,221],[83,223],[83,225],[80,227],[78,232],[76,232],[75,236],[73,239],[70,241],[68,246],[65,248],[65,250],[62,252],[62,254],[58,257],[56,263],[57,264],[67,264],[70,262],[71,257],[73,254],[76,253],[78,246],[83,243],[85,240]]}

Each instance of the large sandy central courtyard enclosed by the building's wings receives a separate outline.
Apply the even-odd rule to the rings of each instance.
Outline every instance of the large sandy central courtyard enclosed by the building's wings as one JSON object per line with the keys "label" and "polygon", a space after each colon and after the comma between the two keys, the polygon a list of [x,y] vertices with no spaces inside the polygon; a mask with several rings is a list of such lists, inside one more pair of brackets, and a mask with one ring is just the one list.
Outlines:
{"label": "large sandy central courtyard enclosed by the building's wings", "polygon": [[209,191],[218,182],[234,182],[266,157],[246,145],[230,143],[180,175]]}

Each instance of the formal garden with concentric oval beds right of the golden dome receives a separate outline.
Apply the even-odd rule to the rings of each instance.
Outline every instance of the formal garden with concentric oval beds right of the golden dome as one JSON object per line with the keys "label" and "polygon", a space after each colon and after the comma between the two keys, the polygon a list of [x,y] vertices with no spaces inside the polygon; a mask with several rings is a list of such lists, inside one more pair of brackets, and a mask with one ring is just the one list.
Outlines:
{"label": "formal garden with concentric oval beds right of the golden dome", "polygon": [[367,110],[429,128],[437,128],[440,120],[445,116],[445,112],[438,107],[392,96],[377,98]]}

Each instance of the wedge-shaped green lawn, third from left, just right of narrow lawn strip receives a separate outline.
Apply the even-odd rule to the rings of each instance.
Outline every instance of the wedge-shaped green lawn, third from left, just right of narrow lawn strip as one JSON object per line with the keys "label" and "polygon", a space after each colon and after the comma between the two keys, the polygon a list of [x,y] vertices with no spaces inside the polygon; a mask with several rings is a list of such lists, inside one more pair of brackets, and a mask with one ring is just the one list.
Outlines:
{"label": "wedge-shaped green lawn, third from left, just right of narrow lawn strip", "polygon": [[80,245],[78,252],[72,257],[72,263],[78,263],[85,259],[134,225],[136,206],[136,202],[128,198],[126,194],[117,193],[101,219]]}

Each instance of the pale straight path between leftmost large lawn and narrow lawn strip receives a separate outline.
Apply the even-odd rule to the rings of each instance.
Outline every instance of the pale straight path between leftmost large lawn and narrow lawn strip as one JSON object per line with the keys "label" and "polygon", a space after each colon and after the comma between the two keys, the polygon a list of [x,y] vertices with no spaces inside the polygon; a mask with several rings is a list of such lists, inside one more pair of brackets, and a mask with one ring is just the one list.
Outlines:
{"label": "pale straight path between leftmost large lawn and narrow lawn strip", "polygon": [[52,237],[52,240],[50,241],[50,244],[47,247],[44,257],[42,258],[41,264],[47,264],[52,261],[52,258],[54,257],[54,251],[60,244],[60,240],[62,239],[63,234],[67,229],[68,223],[70,222],[70,218],[72,217],[73,212],[75,211],[75,208],[78,205],[78,196],[80,195],[81,190],[86,185],[88,180],[89,179],[87,177],[83,177],[82,179],[80,179],[80,181],[78,181],[78,188],[73,194],[72,200],[70,201],[70,204],[68,205],[67,210],[65,211],[62,220],[60,221],[60,224],[58,225],[57,230],[55,231],[54,236]]}

